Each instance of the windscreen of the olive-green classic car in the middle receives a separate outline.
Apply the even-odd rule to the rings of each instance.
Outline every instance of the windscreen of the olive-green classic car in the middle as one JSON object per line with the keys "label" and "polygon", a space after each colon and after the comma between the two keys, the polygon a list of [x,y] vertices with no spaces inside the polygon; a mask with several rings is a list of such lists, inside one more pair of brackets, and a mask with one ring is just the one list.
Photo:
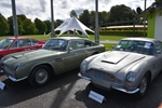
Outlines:
{"label": "windscreen of the olive-green classic car in the middle", "polygon": [[54,50],[54,51],[65,51],[67,48],[67,40],[64,39],[50,39],[42,46],[42,49]]}

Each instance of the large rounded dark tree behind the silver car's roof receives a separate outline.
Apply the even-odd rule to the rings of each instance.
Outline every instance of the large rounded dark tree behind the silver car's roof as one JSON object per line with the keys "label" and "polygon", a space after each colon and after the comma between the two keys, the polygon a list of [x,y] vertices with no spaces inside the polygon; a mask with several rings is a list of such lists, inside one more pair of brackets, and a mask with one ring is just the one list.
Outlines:
{"label": "large rounded dark tree behind the silver car's roof", "polygon": [[109,23],[127,22],[133,21],[136,17],[137,13],[134,10],[131,10],[131,8],[125,6],[124,4],[114,5],[110,9]]}

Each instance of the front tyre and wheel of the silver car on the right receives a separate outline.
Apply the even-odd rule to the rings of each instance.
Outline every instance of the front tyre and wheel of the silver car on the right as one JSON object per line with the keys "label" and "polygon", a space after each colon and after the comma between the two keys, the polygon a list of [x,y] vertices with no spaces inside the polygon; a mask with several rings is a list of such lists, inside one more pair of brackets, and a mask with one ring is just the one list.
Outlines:
{"label": "front tyre and wheel of the silver car on the right", "polygon": [[149,79],[148,79],[148,76],[144,76],[140,83],[139,83],[139,91],[136,93],[136,97],[137,98],[141,98],[144,97],[144,95],[147,93],[147,90],[148,90],[148,84],[149,84]]}

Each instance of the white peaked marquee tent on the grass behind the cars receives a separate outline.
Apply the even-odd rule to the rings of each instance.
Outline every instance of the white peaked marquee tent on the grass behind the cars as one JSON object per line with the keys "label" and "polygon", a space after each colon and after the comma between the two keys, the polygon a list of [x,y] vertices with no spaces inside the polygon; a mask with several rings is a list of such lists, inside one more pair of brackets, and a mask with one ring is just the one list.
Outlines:
{"label": "white peaked marquee tent on the grass behind the cars", "polygon": [[60,33],[58,36],[63,35],[64,32],[68,30],[72,30],[72,31],[80,30],[85,36],[89,36],[85,30],[94,32],[93,30],[87,28],[85,25],[83,25],[80,21],[78,21],[76,17],[67,18],[62,25],[59,25],[55,29],[55,31],[56,30],[60,30]]}

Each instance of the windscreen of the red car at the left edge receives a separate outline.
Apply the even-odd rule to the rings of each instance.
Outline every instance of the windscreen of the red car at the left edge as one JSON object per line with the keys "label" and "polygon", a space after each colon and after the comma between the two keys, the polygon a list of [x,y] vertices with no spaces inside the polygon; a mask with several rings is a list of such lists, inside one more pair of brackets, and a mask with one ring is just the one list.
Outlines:
{"label": "windscreen of the red car at the left edge", "polygon": [[13,43],[13,39],[2,39],[0,40],[0,50],[5,50],[8,49],[12,43]]}

